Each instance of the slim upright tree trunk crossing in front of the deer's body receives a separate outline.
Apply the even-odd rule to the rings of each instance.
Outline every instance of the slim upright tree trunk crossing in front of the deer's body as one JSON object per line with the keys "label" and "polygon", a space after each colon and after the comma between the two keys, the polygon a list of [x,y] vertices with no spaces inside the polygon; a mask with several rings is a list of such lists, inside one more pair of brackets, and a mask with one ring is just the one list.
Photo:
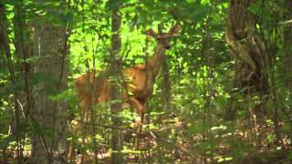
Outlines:
{"label": "slim upright tree trunk crossing in front of the deer's body", "polygon": [[[112,17],[111,17],[111,54],[110,54],[110,76],[113,77],[113,80],[110,81],[110,111],[111,111],[111,119],[114,126],[120,127],[122,120],[119,117],[121,104],[120,100],[120,76],[121,70],[120,67],[120,46],[121,46],[121,39],[120,39],[120,25],[121,25],[121,16],[119,14],[119,7],[113,9]],[[111,163],[123,163],[123,155],[121,150],[123,149],[123,137],[122,131],[120,129],[112,129],[112,158]]]}

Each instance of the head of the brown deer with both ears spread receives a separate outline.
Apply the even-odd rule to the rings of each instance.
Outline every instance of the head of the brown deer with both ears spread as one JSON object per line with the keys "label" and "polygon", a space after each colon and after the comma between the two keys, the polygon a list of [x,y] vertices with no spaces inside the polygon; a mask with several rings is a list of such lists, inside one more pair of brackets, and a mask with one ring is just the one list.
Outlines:
{"label": "head of the brown deer with both ears spread", "polygon": [[149,29],[147,30],[146,35],[155,38],[155,40],[157,41],[157,46],[161,50],[168,50],[171,48],[170,39],[172,38],[172,36],[176,36],[179,31],[180,31],[180,26],[176,24],[175,26],[172,26],[169,32],[167,33],[158,34],[154,32],[154,30]]}

